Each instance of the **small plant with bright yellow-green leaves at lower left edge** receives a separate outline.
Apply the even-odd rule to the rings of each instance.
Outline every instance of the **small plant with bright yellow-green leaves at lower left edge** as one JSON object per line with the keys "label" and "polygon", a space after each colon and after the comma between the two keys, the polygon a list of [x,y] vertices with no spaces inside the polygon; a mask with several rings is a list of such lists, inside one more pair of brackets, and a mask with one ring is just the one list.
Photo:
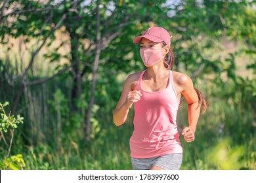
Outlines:
{"label": "small plant with bright yellow-green leaves at lower left edge", "polygon": [[[0,142],[3,139],[3,142],[5,142],[6,146],[8,147],[7,156],[3,159],[3,161],[0,161],[0,168],[1,169],[23,169],[25,167],[25,162],[22,158],[22,154],[17,154],[16,156],[11,156],[9,158],[11,153],[11,147],[12,147],[12,141],[14,137],[14,129],[18,127],[17,124],[23,124],[24,118],[18,115],[16,118],[14,115],[11,115],[11,112],[7,115],[7,112],[5,112],[5,107],[9,105],[8,102],[5,102],[4,104],[0,103]],[[11,140],[9,144],[7,143],[7,139],[5,138],[5,134],[8,133],[8,131],[11,133]]]}

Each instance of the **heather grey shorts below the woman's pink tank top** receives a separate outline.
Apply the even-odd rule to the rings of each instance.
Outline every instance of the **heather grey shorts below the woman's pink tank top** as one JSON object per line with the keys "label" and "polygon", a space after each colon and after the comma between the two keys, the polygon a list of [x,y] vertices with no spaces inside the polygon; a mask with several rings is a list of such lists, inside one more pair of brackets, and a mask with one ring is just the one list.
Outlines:
{"label": "heather grey shorts below the woman's pink tank top", "polygon": [[179,170],[182,163],[182,153],[167,154],[156,158],[131,158],[135,170],[148,170],[153,166],[165,170]]}

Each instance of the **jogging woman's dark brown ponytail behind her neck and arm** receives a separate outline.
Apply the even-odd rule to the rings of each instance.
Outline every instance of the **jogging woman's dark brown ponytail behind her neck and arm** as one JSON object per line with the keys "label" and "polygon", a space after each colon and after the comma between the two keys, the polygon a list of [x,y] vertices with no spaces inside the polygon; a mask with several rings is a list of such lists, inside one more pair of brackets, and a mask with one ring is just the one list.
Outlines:
{"label": "jogging woman's dark brown ponytail behind her neck and arm", "polygon": [[[166,46],[167,44],[165,44],[165,42],[161,42],[162,46]],[[173,53],[173,50],[171,49],[171,46],[170,46],[170,49],[169,49],[169,52],[165,55],[165,61],[163,62],[163,64],[165,65],[165,68],[166,69],[169,69],[169,70],[173,70],[173,65],[175,63],[175,54]],[[207,110],[207,103],[205,101],[205,98],[203,97],[202,93],[194,88],[194,90],[196,90],[196,93],[198,94],[198,107],[202,107],[202,110],[201,110],[201,114],[203,114],[203,112],[205,112],[205,110]],[[182,105],[182,103],[184,103],[184,98],[181,99],[181,103],[180,105]]]}

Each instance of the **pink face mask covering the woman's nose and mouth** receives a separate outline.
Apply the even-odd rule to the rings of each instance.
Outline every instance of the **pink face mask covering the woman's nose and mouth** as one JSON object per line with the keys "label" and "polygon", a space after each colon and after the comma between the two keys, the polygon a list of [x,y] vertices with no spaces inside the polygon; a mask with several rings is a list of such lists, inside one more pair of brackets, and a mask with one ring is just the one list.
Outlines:
{"label": "pink face mask covering the woman's nose and mouth", "polygon": [[[165,47],[163,47],[165,48]],[[141,48],[140,57],[146,67],[150,67],[158,63],[163,58],[163,48]]]}

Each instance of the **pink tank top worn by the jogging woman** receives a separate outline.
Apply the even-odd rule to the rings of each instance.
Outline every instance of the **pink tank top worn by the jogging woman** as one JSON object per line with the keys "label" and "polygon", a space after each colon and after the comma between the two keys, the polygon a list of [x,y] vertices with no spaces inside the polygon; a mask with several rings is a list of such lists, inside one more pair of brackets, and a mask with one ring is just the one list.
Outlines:
{"label": "pink tank top worn by the jogging woman", "polygon": [[176,116],[179,99],[173,87],[173,72],[169,71],[167,88],[148,92],[142,88],[142,76],[135,86],[142,97],[135,103],[134,131],[130,139],[132,158],[154,158],[181,153]]}

